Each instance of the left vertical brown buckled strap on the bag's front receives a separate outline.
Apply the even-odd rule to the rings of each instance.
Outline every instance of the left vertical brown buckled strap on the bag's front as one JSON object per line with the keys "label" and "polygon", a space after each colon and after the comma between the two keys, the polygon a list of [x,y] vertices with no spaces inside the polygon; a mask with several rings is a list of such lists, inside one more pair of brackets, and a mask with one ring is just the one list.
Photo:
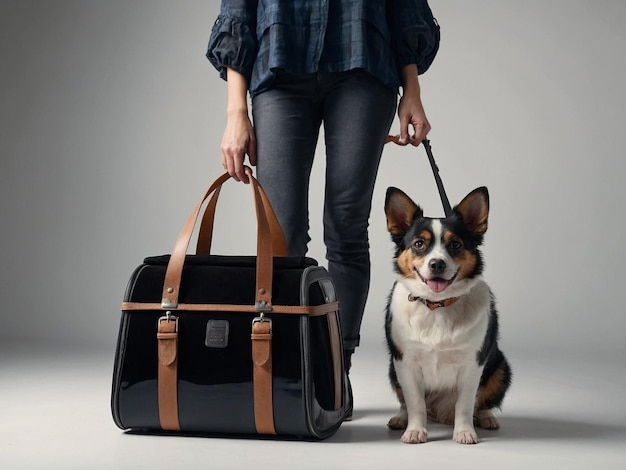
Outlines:
{"label": "left vertical brown buckled strap on the bag's front", "polygon": [[178,422],[178,321],[159,319],[157,329],[159,421],[166,431],[180,431]]}

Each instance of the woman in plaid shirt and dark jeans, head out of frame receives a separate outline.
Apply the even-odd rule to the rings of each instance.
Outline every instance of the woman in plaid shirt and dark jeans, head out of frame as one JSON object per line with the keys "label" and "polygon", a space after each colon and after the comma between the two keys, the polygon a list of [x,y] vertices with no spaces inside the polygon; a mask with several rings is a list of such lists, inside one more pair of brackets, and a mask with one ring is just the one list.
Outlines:
{"label": "woman in plaid shirt and dark jeans, head out of frame", "polygon": [[398,90],[400,142],[417,146],[430,130],[418,73],[438,46],[426,0],[222,0],[209,40],[207,57],[228,89],[222,164],[243,182],[246,155],[257,166],[291,256],[310,240],[309,177],[324,125],[324,242],[346,370],[359,344],[368,220]]}

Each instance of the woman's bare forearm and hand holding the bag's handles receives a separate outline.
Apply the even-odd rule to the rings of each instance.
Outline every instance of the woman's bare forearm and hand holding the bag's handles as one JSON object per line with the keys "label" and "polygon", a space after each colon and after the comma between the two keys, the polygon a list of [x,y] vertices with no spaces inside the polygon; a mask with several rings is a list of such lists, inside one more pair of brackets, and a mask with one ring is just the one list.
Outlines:
{"label": "woman's bare forearm and hand holding the bag's handles", "polygon": [[246,154],[250,165],[256,165],[256,137],[248,115],[248,85],[243,75],[233,69],[226,69],[228,104],[226,108],[226,129],[220,146],[222,166],[236,181],[249,183],[244,171]]}

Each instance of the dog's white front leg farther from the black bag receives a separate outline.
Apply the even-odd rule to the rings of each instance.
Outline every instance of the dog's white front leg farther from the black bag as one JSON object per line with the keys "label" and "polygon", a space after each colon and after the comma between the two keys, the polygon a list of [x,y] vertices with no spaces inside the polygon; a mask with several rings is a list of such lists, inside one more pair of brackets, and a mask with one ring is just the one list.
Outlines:
{"label": "dog's white front leg farther from the black bag", "polygon": [[[478,370],[477,370],[478,369]],[[459,444],[477,444],[478,435],[474,429],[474,407],[480,383],[481,368],[468,366],[459,374],[458,396],[454,409],[453,439]]]}

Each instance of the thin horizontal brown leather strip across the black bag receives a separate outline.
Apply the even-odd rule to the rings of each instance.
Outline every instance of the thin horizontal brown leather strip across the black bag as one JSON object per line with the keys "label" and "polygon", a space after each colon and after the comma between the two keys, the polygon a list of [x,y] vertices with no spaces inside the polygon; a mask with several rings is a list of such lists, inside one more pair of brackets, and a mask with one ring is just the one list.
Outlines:
{"label": "thin horizontal brown leather strip across the black bag", "polygon": [[[272,313],[281,315],[309,315],[317,317],[336,312],[338,302],[322,305],[272,305]],[[161,304],[156,302],[122,302],[120,309],[123,312],[130,310],[155,311],[161,310]],[[179,304],[177,311],[181,312],[228,312],[228,313],[255,313],[254,305],[234,304]]]}

